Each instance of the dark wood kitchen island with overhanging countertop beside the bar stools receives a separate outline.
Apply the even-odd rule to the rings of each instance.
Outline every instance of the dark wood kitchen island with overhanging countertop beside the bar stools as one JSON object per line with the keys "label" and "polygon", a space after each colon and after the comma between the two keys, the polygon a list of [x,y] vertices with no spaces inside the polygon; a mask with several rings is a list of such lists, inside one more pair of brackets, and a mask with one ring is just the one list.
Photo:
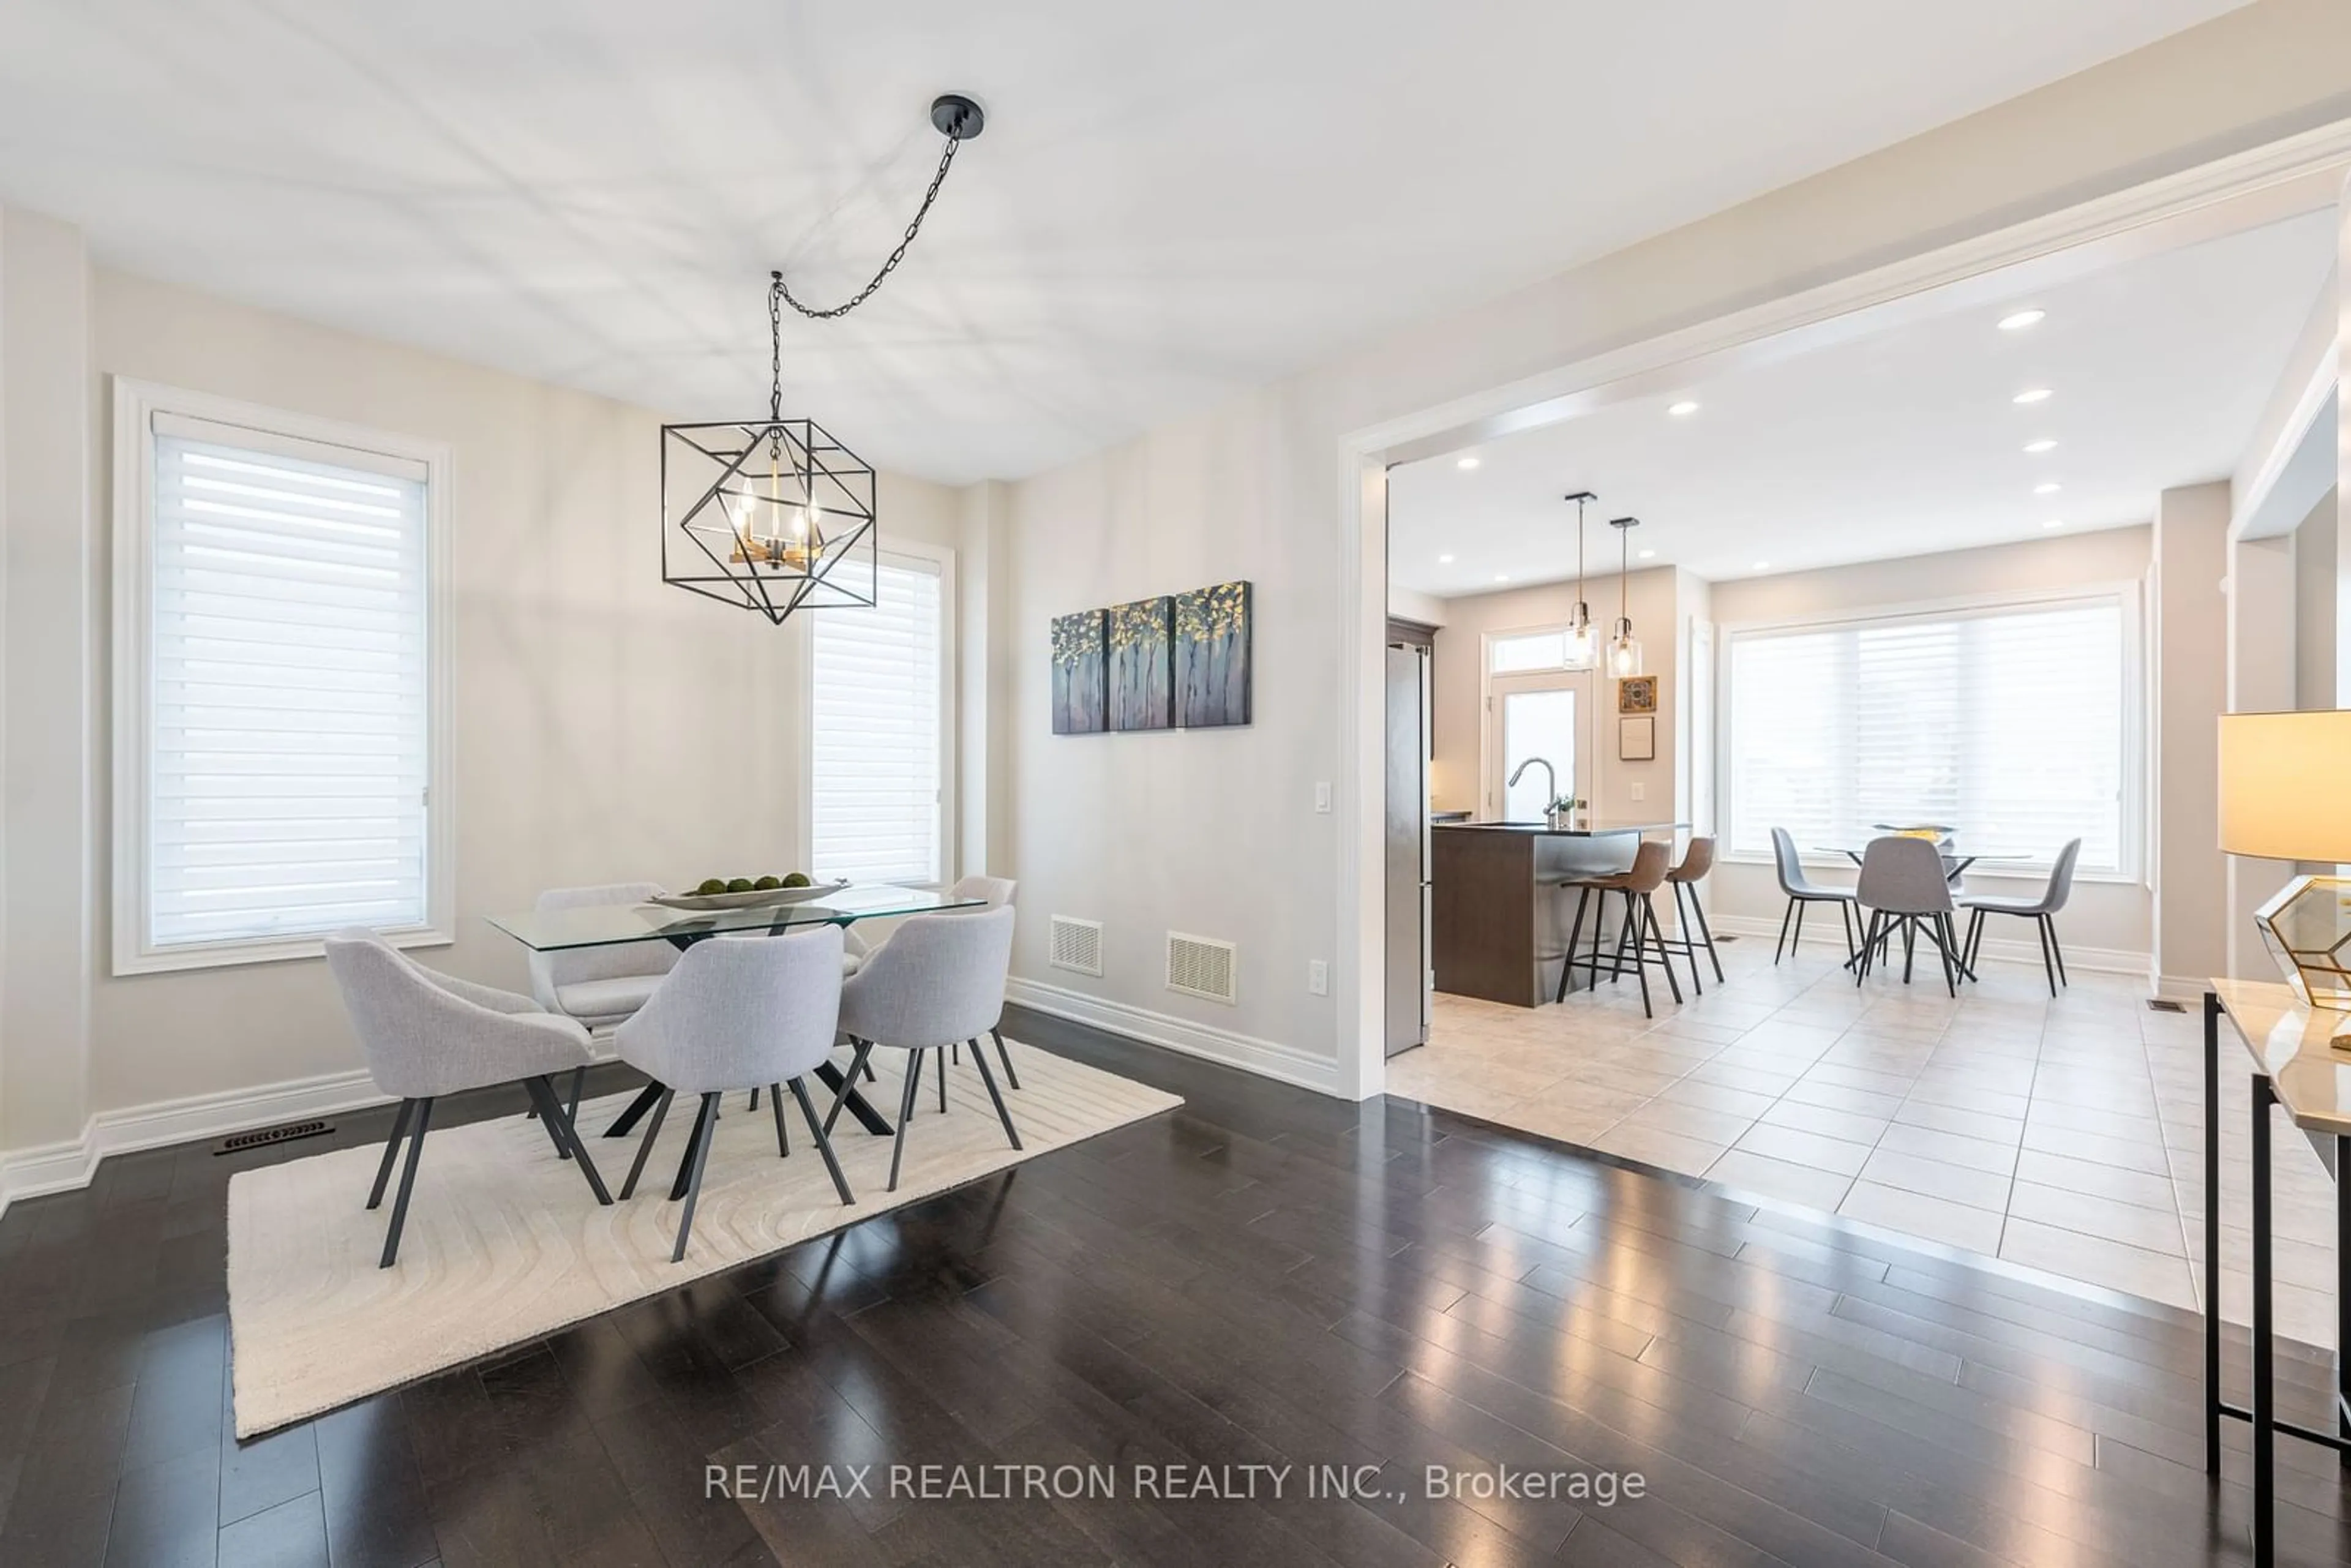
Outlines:
{"label": "dark wood kitchen island with overhanging countertop beside the bar stools", "polygon": [[[1646,835],[1683,827],[1688,823],[1432,823],[1429,964],[1436,990],[1542,1006],[1559,994],[1575,919],[1575,896],[1561,884],[1629,870]],[[1608,931],[1617,907],[1610,907]]]}

